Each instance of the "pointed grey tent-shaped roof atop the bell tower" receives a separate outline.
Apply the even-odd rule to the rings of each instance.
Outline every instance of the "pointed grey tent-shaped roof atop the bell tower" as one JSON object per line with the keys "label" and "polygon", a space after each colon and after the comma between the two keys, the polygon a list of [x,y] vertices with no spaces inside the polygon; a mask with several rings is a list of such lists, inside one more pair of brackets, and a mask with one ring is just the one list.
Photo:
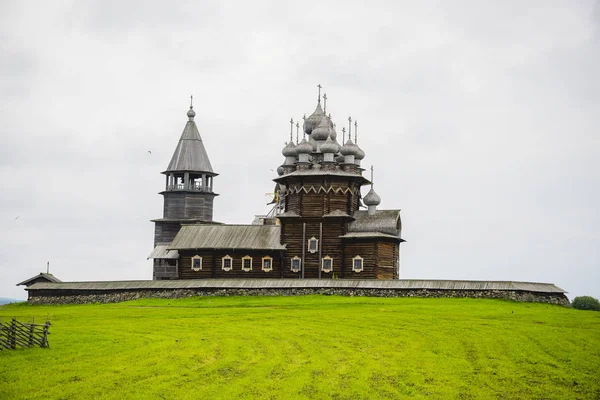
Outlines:
{"label": "pointed grey tent-shaped roof atop the bell tower", "polygon": [[185,124],[169,166],[163,173],[175,171],[208,172],[214,174],[194,118]]}

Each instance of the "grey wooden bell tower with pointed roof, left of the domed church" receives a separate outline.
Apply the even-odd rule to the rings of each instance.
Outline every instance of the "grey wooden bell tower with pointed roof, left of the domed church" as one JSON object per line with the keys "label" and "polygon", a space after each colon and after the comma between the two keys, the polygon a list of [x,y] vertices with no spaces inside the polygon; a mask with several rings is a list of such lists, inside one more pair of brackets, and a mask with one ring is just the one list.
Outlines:
{"label": "grey wooden bell tower with pointed roof, left of the domed church", "polygon": [[167,251],[182,224],[213,223],[213,191],[216,174],[200,137],[194,117],[193,103],[187,112],[188,121],[175,148],[171,162],[162,174],[165,189],[163,217],[154,222],[153,279],[177,279],[176,251]]}

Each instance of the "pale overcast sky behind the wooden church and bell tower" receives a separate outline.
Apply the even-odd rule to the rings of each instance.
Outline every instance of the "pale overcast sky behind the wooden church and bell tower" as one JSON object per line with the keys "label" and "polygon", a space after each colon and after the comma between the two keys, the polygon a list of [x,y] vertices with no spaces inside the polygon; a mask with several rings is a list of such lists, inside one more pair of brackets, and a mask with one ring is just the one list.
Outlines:
{"label": "pale overcast sky behind the wooden church and bell tower", "polygon": [[599,61],[583,0],[0,0],[0,297],[47,261],[152,278],[190,94],[215,220],[267,212],[320,83],[338,132],[359,122],[380,208],[402,209],[402,278],[599,298]]}

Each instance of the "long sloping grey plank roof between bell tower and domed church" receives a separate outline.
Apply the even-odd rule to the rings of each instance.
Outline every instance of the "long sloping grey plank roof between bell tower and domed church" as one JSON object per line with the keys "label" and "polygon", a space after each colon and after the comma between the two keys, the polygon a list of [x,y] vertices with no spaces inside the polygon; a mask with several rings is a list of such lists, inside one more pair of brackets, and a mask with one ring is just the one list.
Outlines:
{"label": "long sloping grey plank roof between bell tower and domed church", "polygon": [[278,225],[183,225],[168,249],[285,250],[280,235]]}

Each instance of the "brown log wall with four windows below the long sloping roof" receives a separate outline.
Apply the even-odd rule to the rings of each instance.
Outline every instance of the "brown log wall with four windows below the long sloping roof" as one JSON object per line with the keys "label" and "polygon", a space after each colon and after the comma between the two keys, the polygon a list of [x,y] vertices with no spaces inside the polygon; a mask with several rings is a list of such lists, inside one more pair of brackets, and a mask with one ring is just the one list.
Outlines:
{"label": "brown log wall with four windows below the long sloping roof", "polygon": [[[202,270],[192,270],[192,257],[202,257]],[[233,258],[231,271],[222,269],[221,260],[225,256]],[[252,257],[252,270],[242,270],[242,257]],[[273,258],[273,269],[269,272],[262,270],[262,258]],[[199,249],[198,251],[186,250],[179,252],[179,278],[204,279],[204,278],[279,278],[281,276],[281,254],[278,251],[246,251],[246,250],[211,250]]]}

